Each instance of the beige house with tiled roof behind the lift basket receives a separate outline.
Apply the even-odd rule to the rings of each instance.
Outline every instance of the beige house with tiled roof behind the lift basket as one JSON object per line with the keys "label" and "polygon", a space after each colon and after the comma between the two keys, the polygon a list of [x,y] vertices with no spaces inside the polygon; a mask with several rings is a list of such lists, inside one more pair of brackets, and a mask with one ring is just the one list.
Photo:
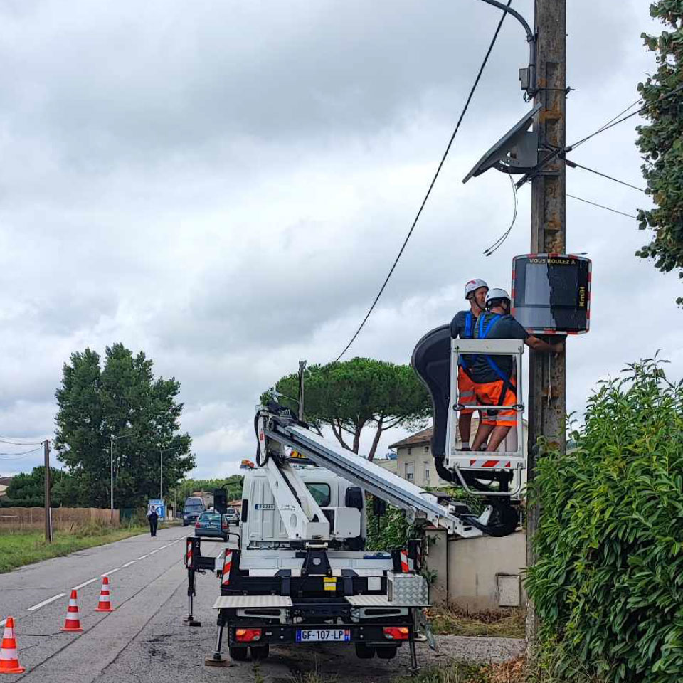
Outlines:
{"label": "beige house with tiled roof behind the lift basket", "polygon": [[[475,414],[472,416],[472,435],[477,431],[479,418]],[[522,423],[524,427],[524,453],[526,454],[526,435],[527,424],[526,420]],[[509,436],[504,444],[501,445],[501,450],[514,450],[513,440],[516,435]],[[389,448],[396,450],[398,456],[396,460],[389,460],[385,462],[395,462],[396,472],[399,477],[407,479],[421,487],[441,488],[448,487],[450,484],[439,477],[434,468],[434,459],[432,457],[432,428],[428,427],[415,434],[411,434],[401,441],[397,441],[389,446]],[[458,444],[460,445],[460,444]],[[381,461],[377,461],[381,465]],[[388,468],[387,468],[388,469]],[[524,479],[526,481],[526,478]]]}

